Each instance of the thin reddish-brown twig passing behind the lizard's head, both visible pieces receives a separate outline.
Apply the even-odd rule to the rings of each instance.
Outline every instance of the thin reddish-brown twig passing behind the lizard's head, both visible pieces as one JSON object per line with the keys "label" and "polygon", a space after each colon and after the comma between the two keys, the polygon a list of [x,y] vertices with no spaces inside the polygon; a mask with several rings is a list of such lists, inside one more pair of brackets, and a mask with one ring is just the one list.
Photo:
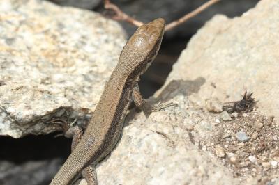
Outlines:
{"label": "thin reddish-brown twig passing behind the lizard's head, both visible pieces", "polygon": [[[190,19],[192,17],[195,17],[196,15],[201,13],[203,10],[205,10],[206,8],[209,8],[209,6],[213,5],[214,3],[217,3],[218,1],[220,1],[220,0],[209,0],[209,1],[207,1],[202,6],[199,6],[199,8],[197,8],[197,9],[193,10],[192,12],[184,15],[180,19],[177,19],[176,21],[167,24],[167,26],[165,28],[165,31],[169,31],[169,30],[173,29],[174,27],[178,26],[179,24],[182,24],[183,22],[186,22],[188,19]],[[125,22],[128,22],[128,23],[133,24],[133,25],[138,26],[138,27],[142,26],[142,24],[144,24],[143,22],[140,22],[136,19],[133,19],[133,17],[130,17],[126,13],[123,13],[123,11],[120,10],[120,8],[118,6],[116,6],[114,3],[111,3],[110,0],[104,0],[104,7],[107,10],[114,11],[115,15],[112,16],[112,19],[114,19],[114,20],[125,21]]]}

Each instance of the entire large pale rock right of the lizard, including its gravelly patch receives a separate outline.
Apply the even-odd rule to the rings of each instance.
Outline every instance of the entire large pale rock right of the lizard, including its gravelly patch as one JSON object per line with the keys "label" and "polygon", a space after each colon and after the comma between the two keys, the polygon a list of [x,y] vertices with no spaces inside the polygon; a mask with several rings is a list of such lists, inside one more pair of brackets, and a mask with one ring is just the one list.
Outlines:
{"label": "entire large pale rock right of the lizard, including its gravelly patch", "polygon": [[[260,100],[260,112],[276,115],[278,5],[265,0],[241,17],[218,15],[195,35],[156,93],[177,106],[149,118],[128,115],[119,145],[97,168],[100,184],[278,183],[273,117],[254,110],[222,121],[204,104],[239,100],[246,87]],[[241,142],[239,131],[252,139]]]}

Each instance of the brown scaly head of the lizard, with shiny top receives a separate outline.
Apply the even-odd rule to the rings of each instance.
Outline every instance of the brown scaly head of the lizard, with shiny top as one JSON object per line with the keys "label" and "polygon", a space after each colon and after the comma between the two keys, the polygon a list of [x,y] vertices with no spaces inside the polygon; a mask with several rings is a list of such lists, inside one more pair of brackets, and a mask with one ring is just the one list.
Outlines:
{"label": "brown scaly head of the lizard, with shiny top", "polygon": [[158,54],[165,32],[165,20],[158,18],[143,24],[128,40],[119,58],[122,72],[138,79]]}

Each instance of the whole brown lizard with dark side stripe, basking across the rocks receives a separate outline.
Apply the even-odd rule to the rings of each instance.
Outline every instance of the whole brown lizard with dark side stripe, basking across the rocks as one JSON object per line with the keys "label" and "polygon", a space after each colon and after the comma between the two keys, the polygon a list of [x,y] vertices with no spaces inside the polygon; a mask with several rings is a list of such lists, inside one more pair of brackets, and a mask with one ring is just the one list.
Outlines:
{"label": "whole brown lizard with dark side stripe, basking across the rocks", "polygon": [[[72,184],[80,172],[87,184],[98,184],[95,166],[119,141],[123,120],[133,100],[143,111],[152,111],[142,98],[137,82],[156,57],[165,31],[165,20],[140,26],[128,40],[84,134],[76,129],[72,153],[52,179],[51,185]],[[157,109],[158,110],[158,109]]]}

